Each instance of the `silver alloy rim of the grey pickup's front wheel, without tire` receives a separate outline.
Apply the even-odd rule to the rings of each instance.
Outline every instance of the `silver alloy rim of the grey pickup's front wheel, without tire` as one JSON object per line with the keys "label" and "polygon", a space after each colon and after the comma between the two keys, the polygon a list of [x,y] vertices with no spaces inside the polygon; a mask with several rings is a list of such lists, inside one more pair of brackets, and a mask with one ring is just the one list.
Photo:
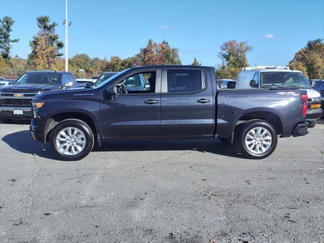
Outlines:
{"label": "silver alloy rim of the grey pickup's front wheel, without tire", "polygon": [[64,128],[56,136],[56,146],[65,155],[76,155],[84,150],[86,137],[77,128]]}

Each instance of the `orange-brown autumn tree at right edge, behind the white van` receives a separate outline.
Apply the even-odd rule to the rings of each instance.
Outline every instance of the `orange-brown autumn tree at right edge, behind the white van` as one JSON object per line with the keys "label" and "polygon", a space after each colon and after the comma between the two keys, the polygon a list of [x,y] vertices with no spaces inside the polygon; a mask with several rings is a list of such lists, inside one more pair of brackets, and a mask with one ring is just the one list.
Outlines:
{"label": "orange-brown autumn tree at right edge, behind the white van", "polygon": [[324,42],[323,39],[308,41],[307,45],[299,50],[289,67],[302,71],[308,78],[323,78],[324,76]]}

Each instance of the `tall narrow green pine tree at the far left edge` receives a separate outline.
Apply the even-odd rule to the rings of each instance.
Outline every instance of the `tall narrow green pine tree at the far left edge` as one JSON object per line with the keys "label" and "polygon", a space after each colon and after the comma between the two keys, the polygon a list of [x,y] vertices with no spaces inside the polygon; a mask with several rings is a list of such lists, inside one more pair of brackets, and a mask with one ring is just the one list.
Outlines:
{"label": "tall narrow green pine tree at the far left edge", "polygon": [[10,36],[10,33],[12,32],[11,27],[14,23],[15,21],[9,16],[0,19],[0,50],[2,57],[7,61],[10,59],[10,49],[12,48],[11,43],[19,42],[19,39],[12,39]]}

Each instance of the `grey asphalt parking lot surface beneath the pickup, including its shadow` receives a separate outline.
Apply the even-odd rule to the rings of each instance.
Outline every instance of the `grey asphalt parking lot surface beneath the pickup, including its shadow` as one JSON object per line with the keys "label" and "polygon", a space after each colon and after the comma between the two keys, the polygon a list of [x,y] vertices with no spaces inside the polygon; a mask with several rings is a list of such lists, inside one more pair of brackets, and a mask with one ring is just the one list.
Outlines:
{"label": "grey asphalt parking lot surface beneath the pickup, including its shadow", "polygon": [[28,123],[0,135],[1,242],[324,242],[323,124],[263,160],[215,140],[107,142],[65,162]]}

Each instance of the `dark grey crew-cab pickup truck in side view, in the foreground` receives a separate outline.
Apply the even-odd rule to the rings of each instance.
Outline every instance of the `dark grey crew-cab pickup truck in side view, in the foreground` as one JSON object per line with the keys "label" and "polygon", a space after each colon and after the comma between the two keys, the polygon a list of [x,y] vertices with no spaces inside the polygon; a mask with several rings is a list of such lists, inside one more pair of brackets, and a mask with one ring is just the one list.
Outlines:
{"label": "dark grey crew-cab pickup truck in side view, in the foreground", "polygon": [[[125,85],[139,75],[145,89]],[[49,142],[63,160],[85,157],[95,141],[215,138],[264,158],[277,135],[305,135],[308,126],[306,91],[220,91],[214,68],[203,66],[133,67],[92,88],[36,95],[32,103],[33,140]]]}

